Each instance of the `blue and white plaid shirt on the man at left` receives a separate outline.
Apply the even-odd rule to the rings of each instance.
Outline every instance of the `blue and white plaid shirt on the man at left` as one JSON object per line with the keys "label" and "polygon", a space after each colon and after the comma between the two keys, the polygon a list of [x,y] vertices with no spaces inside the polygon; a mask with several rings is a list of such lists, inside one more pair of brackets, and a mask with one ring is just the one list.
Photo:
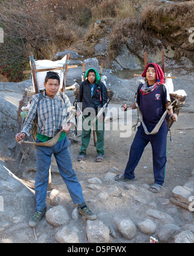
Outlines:
{"label": "blue and white plaid shirt on the man at left", "polygon": [[[64,99],[65,98],[65,102]],[[25,120],[23,129],[21,132],[25,132],[28,136],[30,130],[32,130],[32,124],[38,113],[38,133],[46,135],[47,137],[54,137],[59,130],[62,129],[63,121],[65,117],[70,115],[70,101],[67,95],[63,93],[63,99],[56,94],[53,99],[48,97],[45,92],[43,93],[43,99],[40,100],[38,105],[39,95],[36,94],[32,97],[32,102],[28,111],[27,119]],[[74,122],[71,119],[70,122]]]}

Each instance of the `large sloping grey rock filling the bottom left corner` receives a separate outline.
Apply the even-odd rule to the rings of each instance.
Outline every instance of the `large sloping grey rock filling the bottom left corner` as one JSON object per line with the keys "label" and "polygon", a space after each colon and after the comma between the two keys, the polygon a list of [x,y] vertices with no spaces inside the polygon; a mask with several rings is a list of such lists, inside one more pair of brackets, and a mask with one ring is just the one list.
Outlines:
{"label": "large sloping grey rock filling the bottom left corner", "polygon": [[1,242],[29,242],[28,219],[34,214],[33,209],[36,206],[34,194],[8,174],[6,165],[1,160],[0,184]]}

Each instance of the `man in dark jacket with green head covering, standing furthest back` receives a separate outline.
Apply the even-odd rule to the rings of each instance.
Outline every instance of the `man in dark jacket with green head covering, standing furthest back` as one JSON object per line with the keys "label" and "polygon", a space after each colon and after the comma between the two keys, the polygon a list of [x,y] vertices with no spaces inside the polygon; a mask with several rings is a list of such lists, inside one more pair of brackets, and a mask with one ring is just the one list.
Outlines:
{"label": "man in dark jacket with green head covering, standing furthest back", "polygon": [[[107,102],[107,88],[101,77],[95,69],[89,69],[85,73],[85,81],[80,84],[80,93],[78,96],[78,106],[82,111],[82,134],[81,149],[78,161],[84,160],[86,156],[87,146],[91,138],[91,122],[100,111],[100,108]],[[79,112],[79,108],[78,108]],[[94,130],[96,130],[96,151],[98,156],[96,161],[102,161],[104,155],[104,119],[105,112],[94,122]]]}

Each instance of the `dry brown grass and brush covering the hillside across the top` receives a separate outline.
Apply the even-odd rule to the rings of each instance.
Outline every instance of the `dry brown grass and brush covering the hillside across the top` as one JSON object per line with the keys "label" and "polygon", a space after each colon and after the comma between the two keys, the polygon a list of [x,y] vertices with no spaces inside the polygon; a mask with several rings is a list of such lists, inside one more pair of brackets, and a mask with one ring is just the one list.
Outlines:
{"label": "dry brown grass and brush covering the hillside across the top", "polygon": [[[0,65],[11,80],[21,80],[30,51],[35,58],[52,59],[56,52],[85,41],[92,53],[104,36],[111,40],[111,62],[130,38],[151,45],[153,32],[170,34],[184,25],[182,16],[191,19],[193,6],[193,1],[171,5],[156,0],[0,0],[0,26],[6,35]],[[193,19],[188,19],[190,25]]]}

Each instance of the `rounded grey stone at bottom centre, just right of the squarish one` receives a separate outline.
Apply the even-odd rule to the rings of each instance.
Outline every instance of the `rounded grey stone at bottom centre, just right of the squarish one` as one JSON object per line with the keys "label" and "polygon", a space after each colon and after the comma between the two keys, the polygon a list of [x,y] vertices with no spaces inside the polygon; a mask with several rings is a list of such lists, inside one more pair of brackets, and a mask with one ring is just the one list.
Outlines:
{"label": "rounded grey stone at bottom centre, just right of the squarish one", "polygon": [[120,233],[125,237],[125,239],[133,239],[136,236],[136,226],[132,220],[129,218],[115,220],[116,227]]}

